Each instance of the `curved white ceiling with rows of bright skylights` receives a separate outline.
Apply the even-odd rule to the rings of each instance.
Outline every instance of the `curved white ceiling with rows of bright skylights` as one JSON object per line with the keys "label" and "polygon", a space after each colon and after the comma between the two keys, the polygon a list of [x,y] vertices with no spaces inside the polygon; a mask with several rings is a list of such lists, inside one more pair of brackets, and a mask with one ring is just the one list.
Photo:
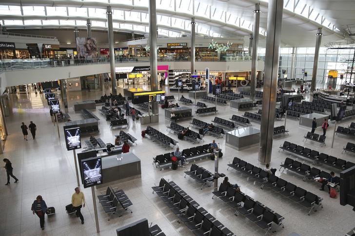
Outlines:
{"label": "curved white ceiling with rows of bright skylights", "polygon": [[[240,37],[253,30],[253,10],[260,2],[260,39],[266,35],[268,0],[157,0],[159,34],[180,36],[190,33],[190,21],[195,17],[197,35]],[[284,0],[281,41],[285,45],[299,46],[299,37],[314,41],[315,32],[323,28],[329,40],[344,39],[344,35],[318,11],[310,0]],[[316,1],[316,0],[313,0]],[[355,1],[353,1],[355,2]],[[106,28],[106,7],[114,12],[116,31],[148,32],[148,0],[2,0],[0,19],[12,28],[80,28],[86,19],[93,28]],[[58,21],[58,23],[57,23]]]}

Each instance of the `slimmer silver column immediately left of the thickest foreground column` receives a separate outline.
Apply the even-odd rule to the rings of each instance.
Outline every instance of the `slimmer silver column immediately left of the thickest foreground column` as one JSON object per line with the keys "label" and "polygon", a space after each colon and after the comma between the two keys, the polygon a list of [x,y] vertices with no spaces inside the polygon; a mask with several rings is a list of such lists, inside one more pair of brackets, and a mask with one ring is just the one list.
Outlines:
{"label": "slimmer silver column immediately left of the thickest foreground column", "polygon": [[257,67],[257,45],[259,42],[259,23],[260,23],[260,4],[255,4],[254,13],[254,31],[252,42],[252,73],[250,78],[250,99],[254,101],[256,90],[256,67]]}

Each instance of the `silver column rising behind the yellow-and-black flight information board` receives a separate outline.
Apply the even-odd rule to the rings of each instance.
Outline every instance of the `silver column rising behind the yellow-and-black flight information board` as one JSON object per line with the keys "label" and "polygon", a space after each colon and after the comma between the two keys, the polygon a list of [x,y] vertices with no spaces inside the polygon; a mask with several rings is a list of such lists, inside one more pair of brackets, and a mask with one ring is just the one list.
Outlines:
{"label": "silver column rising behind the yellow-and-black flight information board", "polygon": [[[149,46],[150,46],[150,84],[151,90],[158,90],[158,62],[157,62],[157,13],[156,0],[149,0]],[[152,114],[158,114],[158,103],[152,103]]]}

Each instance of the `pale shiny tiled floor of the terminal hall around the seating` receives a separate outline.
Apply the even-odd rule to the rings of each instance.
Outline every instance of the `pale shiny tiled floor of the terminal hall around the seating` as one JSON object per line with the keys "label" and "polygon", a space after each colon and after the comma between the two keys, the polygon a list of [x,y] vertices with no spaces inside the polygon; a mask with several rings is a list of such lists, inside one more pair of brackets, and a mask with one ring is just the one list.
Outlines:
{"label": "pale shiny tiled floor of the terminal hall around the seating", "polygon": [[[122,88],[119,88],[122,92]],[[109,92],[108,92],[109,93]],[[123,94],[123,93],[122,93]],[[74,113],[72,104],[75,101],[98,98],[102,95],[101,91],[68,92],[69,113],[72,120],[81,119],[78,113]],[[176,97],[177,94],[174,94]],[[186,95],[186,93],[185,93]],[[212,199],[211,192],[213,187],[199,189],[199,185],[190,178],[184,178],[183,169],[162,170],[159,171],[152,165],[152,158],[158,154],[165,153],[165,149],[153,143],[149,139],[141,139],[140,131],[146,126],[141,126],[140,122],[132,123],[129,119],[130,127],[127,130],[138,139],[138,145],[131,147],[131,151],[141,159],[142,177],[130,182],[116,184],[122,188],[133,202],[131,209],[133,214],[127,213],[122,217],[114,216],[108,221],[107,215],[98,204],[100,233],[96,233],[95,216],[93,210],[93,200],[90,189],[83,189],[87,200],[87,207],[82,210],[85,218],[85,224],[81,225],[78,218],[68,216],[65,212],[65,205],[71,201],[71,195],[76,187],[75,165],[73,153],[65,148],[64,138],[60,133],[58,138],[57,127],[53,125],[49,116],[48,106],[42,95],[11,94],[12,113],[7,117],[7,127],[9,136],[5,144],[4,154],[1,158],[9,158],[13,163],[14,175],[20,179],[19,183],[13,183],[5,186],[6,173],[1,169],[0,185],[0,235],[1,236],[114,236],[115,229],[126,225],[140,218],[147,218],[149,222],[158,224],[164,233],[168,236],[193,235],[186,226],[177,222],[177,217],[167,208],[156,194],[152,194],[151,186],[158,182],[161,177],[175,181],[184,191],[194,198],[202,207],[207,209],[220,222],[227,226],[238,236],[261,236],[264,231],[244,218],[243,216],[234,216],[234,211],[225,203],[218,199]],[[44,105],[43,105],[44,104]],[[214,106],[213,104],[209,104]],[[191,106],[193,110],[196,108]],[[231,110],[229,106],[218,106],[218,117],[229,119],[232,114],[242,114],[241,111]],[[254,112],[257,109],[253,110]],[[114,134],[119,129],[110,130],[108,123],[98,110],[94,113],[102,118],[99,121],[99,137],[105,143],[114,142]],[[211,121],[215,115],[202,116],[198,119]],[[20,122],[29,124],[32,120],[37,125],[36,140],[32,137],[24,141],[20,130]],[[347,126],[351,121],[346,121],[342,125]],[[189,121],[180,122],[182,126],[188,126]],[[275,126],[284,124],[284,120],[276,121]],[[152,125],[161,132],[168,133],[166,126],[169,122],[164,119],[164,112],[159,110],[159,123]],[[63,123],[59,124],[59,130],[62,130]],[[253,123],[253,127],[259,128],[260,125]],[[285,140],[296,144],[305,145],[312,149],[332,154],[348,161],[355,161],[350,153],[341,154],[342,147],[346,144],[345,136],[335,136],[334,148],[331,148],[331,137],[334,125],[331,124],[328,130],[326,146],[320,147],[319,144],[306,141],[302,143],[302,137],[308,131],[307,128],[299,127],[298,121],[287,119],[286,128],[290,130],[289,136],[280,136],[274,139],[273,157],[271,165],[278,167],[279,164],[289,156],[285,152],[278,152],[278,146]],[[316,132],[320,133],[320,129]],[[29,135],[30,136],[30,135]],[[177,139],[172,133],[169,136]],[[204,144],[210,143],[212,136],[205,136]],[[339,198],[331,199],[326,192],[319,191],[320,185],[315,182],[303,182],[302,177],[289,171],[278,171],[276,175],[281,176],[297,186],[301,186],[307,191],[318,194],[323,200],[323,209],[314,212],[311,216],[307,215],[304,208],[296,203],[275,194],[268,189],[260,189],[259,184],[254,184],[252,180],[247,180],[236,170],[227,170],[227,163],[233,160],[233,157],[240,157],[248,162],[258,165],[258,148],[253,147],[243,151],[237,151],[225,146],[224,138],[216,140],[223,149],[223,158],[219,160],[219,172],[225,173],[232,183],[238,183],[242,192],[255,198],[277,213],[285,217],[285,228],[276,229],[277,232],[270,235],[285,236],[293,232],[302,236],[340,236],[348,232],[354,225],[354,212],[350,206],[340,206]],[[180,149],[194,146],[190,142],[180,141]],[[80,150],[78,150],[79,152]],[[293,156],[294,159],[296,157]],[[299,159],[301,162],[310,164],[308,161]],[[214,162],[209,159],[197,161],[198,165],[213,171]],[[190,164],[187,165],[190,167]],[[320,169],[331,171],[324,165],[319,165]],[[338,172],[336,172],[338,174]],[[46,217],[45,229],[42,231],[39,227],[39,218],[32,215],[31,204],[37,195],[42,195],[48,206],[56,208],[56,215],[50,218]]]}

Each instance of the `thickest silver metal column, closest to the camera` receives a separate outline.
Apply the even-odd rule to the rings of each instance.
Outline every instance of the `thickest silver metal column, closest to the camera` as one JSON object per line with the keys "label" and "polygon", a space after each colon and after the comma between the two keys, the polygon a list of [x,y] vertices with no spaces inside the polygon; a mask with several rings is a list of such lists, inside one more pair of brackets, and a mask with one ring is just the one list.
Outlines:
{"label": "thickest silver metal column, closest to the camera", "polygon": [[265,53],[264,94],[260,126],[260,163],[270,163],[273,147],[279,47],[283,0],[269,0]]}

